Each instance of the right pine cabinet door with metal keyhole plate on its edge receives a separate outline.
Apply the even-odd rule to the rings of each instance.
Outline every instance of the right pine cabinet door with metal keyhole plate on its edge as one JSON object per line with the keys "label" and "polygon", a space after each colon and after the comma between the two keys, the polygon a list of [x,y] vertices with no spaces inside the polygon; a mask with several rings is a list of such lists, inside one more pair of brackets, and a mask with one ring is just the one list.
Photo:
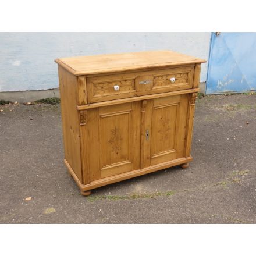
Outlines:
{"label": "right pine cabinet door with metal keyhole plate on its edge", "polygon": [[142,102],[141,169],[184,157],[189,94]]}

